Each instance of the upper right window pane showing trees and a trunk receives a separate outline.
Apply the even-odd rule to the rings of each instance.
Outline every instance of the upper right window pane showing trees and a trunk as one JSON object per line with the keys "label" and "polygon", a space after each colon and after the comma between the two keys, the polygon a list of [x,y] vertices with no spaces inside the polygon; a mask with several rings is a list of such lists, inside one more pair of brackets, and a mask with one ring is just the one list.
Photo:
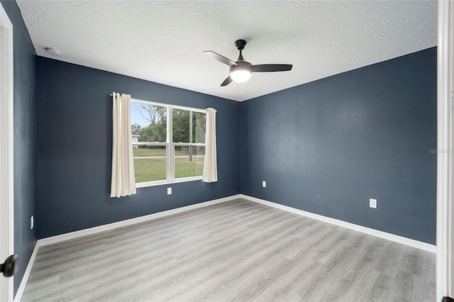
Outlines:
{"label": "upper right window pane showing trees and a trunk", "polygon": [[205,142],[205,113],[174,108],[172,118],[173,142]]}

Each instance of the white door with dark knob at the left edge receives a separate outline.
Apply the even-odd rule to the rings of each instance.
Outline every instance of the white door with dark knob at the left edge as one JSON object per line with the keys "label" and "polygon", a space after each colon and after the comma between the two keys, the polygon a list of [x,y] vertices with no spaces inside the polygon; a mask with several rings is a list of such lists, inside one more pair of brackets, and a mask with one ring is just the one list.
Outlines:
{"label": "white door with dark knob at the left edge", "polygon": [[[0,262],[14,253],[13,24],[0,4]],[[0,278],[4,278],[0,276]],[[13,277],[0,282],[0,301],[13,301]]]}

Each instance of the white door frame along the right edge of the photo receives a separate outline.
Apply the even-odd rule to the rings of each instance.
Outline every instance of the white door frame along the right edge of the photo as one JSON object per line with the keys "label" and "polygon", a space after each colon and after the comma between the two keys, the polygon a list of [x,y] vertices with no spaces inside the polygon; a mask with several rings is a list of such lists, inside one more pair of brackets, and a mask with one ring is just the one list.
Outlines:
{"label": "white door frame along the right edge of the photo", "polygon": [[454,2],[438,1],[437,300],[454,296]]}

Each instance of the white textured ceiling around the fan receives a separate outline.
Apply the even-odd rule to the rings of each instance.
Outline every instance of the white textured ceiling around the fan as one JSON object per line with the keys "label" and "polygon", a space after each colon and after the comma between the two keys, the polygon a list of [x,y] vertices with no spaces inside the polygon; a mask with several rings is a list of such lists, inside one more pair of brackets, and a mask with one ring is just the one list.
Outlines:
{"label": "white textured ceiling around the fan", "polygon": [[[436,46],[436,1],[23,1],[38,55],[243,101]],[[248,42],[253,65],[293,64],[219,85]],[[120,91],[128,93],[129,91]],[[159,101],[159,100],[155,100]]]}

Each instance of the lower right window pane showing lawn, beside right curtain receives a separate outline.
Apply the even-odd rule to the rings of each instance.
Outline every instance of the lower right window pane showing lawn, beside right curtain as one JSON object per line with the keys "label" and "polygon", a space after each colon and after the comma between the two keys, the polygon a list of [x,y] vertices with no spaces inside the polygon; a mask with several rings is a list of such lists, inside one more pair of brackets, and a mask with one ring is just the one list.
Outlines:
{"label": "lower right window pane showing lawn, beside right curtain", "polygon": [[201,176],[204,157],[205,147],[175,147],[175,178]]}

